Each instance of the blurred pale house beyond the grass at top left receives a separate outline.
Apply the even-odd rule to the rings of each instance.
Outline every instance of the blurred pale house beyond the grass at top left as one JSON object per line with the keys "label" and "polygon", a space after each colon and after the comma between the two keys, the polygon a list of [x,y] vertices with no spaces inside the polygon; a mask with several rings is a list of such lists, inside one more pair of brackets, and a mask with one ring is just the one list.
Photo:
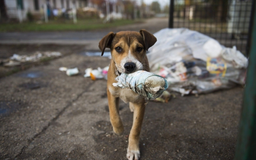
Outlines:
{"label": "blurred pale house beyond the grass at top left", "polygon": [[76,8],[81,8],[91,4],[91,0],[5,0],[7,16],[18,19],[18,9],[20,8],[23,20],[27,19],[28,12],[34,18],[40,19],[43,14],[44,4],[47,4],[48,16],[50,16],[53,9],[65,11],[71,9],[74,5]]}

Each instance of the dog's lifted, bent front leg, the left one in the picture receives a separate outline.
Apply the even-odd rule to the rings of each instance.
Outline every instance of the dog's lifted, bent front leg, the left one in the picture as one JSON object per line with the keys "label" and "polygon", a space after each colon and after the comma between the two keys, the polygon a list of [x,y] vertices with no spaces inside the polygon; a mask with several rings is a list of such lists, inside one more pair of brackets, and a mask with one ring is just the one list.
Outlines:
{"label": "dog's lifted, bent front leg, the left one in the picture", "polygon": [[108,89],[107,89],[107,96],[108,96],[108,108],[110,110],[110,122],[112,124],[113,131],[118,135],[122,135],[124,127],[119,115],[119,97],[115,97],[111,95]]}

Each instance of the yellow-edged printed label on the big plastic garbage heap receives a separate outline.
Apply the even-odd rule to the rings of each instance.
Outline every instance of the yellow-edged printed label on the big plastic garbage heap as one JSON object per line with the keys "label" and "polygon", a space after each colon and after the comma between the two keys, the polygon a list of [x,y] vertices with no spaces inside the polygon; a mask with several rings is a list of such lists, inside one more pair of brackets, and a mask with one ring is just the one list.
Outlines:
{"label": "yellow-edged printed label on the big plastic garbage heap", "polygon": [[207,58],[206,69],[210,74],[217,76],[225,76],[226,74],[226,63],[222,58]]}

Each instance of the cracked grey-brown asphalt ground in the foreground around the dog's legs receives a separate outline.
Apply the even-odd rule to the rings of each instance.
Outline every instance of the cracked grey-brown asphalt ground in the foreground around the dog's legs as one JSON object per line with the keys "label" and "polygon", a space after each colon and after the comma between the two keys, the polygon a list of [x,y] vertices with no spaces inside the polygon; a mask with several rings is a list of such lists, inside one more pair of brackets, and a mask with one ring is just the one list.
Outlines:
{"label": "cracked grey-brown asphalt ground in the foreground around the dog's legs", "polygon": [[[133,114],[121,102],[123,136],[113,133],[106,80],[84,70],[108,65],[106,57],[71,54],[48,65],[0,79],[0,159],[126,159]],[[69,77],[59,67],[78,67]],[[141,160],[233,159],[241,87],[199,97],[177,94],[149,102],[140,136]]]}

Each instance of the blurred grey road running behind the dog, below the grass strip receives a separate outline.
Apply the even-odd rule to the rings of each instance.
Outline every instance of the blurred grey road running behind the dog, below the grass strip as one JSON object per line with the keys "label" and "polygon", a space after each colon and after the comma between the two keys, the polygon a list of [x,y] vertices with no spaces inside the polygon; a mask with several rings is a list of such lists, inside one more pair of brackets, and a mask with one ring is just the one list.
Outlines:
{"label": "blurred grey road running behind the dog, below the grass strip", "polygon": [[98,42],[109,32],[146,29],[155,33],[168,27],[168,18],[150,18],[133,25],[118,26],[97,31],[77,32],[6,32],[0,33],[0,44],[64,44],[86,45],[88,50],[98,50]]}

